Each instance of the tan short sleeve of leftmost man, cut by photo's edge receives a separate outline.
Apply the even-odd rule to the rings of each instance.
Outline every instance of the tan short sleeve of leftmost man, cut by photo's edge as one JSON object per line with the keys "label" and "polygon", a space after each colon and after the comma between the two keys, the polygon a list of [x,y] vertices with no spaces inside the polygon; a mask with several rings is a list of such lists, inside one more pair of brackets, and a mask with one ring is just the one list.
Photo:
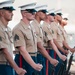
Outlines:
{"label": "tan short sleeve of leftmost man, cut by photo's edge", "polygon": [[8,47],[8,41],[5,37],[5,33],[3,31],[0,31],[0,49],[7,48]]}

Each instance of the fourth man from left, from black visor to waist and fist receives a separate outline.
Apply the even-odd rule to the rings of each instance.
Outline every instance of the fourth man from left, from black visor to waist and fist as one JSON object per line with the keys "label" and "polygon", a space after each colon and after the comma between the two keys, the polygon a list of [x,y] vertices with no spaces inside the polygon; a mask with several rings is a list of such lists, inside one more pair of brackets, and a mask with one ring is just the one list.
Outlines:
{"label": "fourth man from left, from black visor to waist and fist", "polygon": [[[66,59],[66,57],[64,57],[63,55],[61,55],[61,53],[58,51],[58,48],[56,47],[54,41],[53,41],[53,30],[51,29],[50,24],[54,21],[54,13],[50,13],[46,16],[46,18],[44,19],[42,28],[44,33],[47,34],[46,39],[45,39],[45,47],[47,48],[52,48],[54,49],[54,51],[58,54],[58,56],[60,57],[60,59],[62,59],[63,61]],[[53,51],[53,50],[52,50]],[[51,54],[51,56],[53,56]]]}

